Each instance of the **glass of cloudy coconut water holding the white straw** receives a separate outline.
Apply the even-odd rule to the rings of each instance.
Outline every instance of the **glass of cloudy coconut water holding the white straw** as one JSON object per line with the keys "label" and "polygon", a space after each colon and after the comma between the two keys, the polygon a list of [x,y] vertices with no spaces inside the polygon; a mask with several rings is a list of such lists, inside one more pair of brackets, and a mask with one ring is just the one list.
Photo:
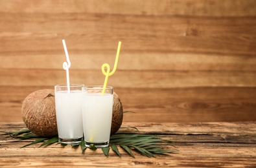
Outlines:
{"label": "glass of cloudy coconut water holding the white straw", "polygon": [[82,84],[55,85],[55,107],[60,143],[80,143],[83,138]]}

